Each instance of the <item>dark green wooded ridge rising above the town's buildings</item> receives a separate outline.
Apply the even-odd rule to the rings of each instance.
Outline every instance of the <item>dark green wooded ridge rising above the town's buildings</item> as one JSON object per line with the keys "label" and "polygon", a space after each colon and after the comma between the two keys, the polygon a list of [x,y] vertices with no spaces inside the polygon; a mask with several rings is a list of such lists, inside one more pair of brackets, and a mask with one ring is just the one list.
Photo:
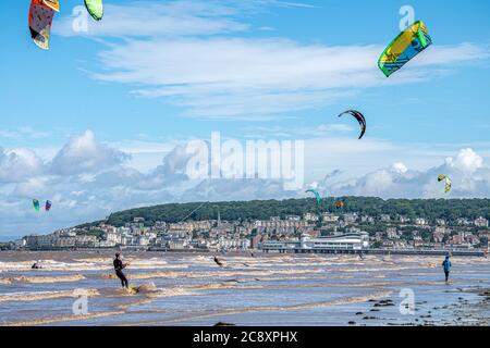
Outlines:
{"label": "dark green wooded ridge rising above the town's buildings", "polygon": [[[175,223],[180,221],[216,220],[218,213],[225,221],[268,220],[271,216],[284,219],[286,215],[303,215],[311,212],[352,213],[380,216],[389,214],[392,219],[424,217],[430,223],[437,219],[455,222],[460,217],[474,220],[479,216],[490,220],[490,199],[389,199],[371,197],[343,197],[344,208],[336,209],[332,198],[322,200],[317,207],[315,199],[254,200],[207,203],[171,203],[131,209],[112,213],[107,223],[123,226],[134,217],[144,217],[145,225],[152,226],[157,221]],[[95,225],[99,222],[87,225]]]}

